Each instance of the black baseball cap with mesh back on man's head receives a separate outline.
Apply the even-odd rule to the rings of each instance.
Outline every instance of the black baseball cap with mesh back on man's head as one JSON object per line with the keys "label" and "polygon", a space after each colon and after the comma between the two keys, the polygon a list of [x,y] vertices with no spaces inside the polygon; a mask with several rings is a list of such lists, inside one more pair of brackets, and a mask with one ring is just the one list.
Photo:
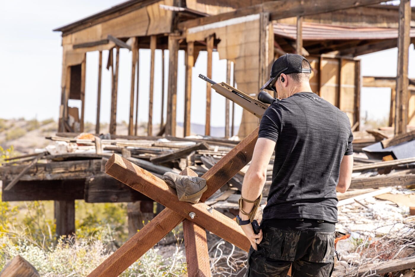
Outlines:
{"label": "black baseball cap with mesh back on man's head", "polygon": [[[272,86],[277,81],[277,78],[281,75],[281,73],[311,73],[311,65],[308,69],[303,69],[303,66],[301,66],[303,60],[307,61],[307,59],[298,54],[285,54],[276,59],[271,67],[270,79],[265,83],[264,86],[262,86],[262,88],[260,88],[260,90],[269,89],[272,91]],[[308,64],[310,63],[308,62]]]}

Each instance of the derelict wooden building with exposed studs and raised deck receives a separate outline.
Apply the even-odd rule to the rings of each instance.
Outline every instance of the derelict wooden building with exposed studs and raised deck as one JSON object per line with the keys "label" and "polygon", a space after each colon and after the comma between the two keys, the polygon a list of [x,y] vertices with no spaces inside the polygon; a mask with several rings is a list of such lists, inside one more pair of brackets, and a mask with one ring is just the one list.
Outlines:
{"label": "derelict wooden building with exposed studs and raised deck", "polygon": [[[411,13],[413,9],[408,0],[401,0],[400,6],[380,5],[381,2],[375,0],[359,2],[350,0],[269,2],[261,0],[129,0],[55,29],[54,31],[62,33],[63,48],[59,133],[57,135],[61,138],[68,138],[84,132],[85,80],[88,78],[86,53],[99,51],[98,91],[88,91],[88,93],[98,93],[95,136],[100,134],[101,72],[106,68],[112,73],[109,130],[112,140],[121,139],[122,141],[110,142],[108,140],[106,143],[113,145],[107,145],[105,148],[97,145],[95,154],[44,154],[38,156],[41,159],[49,159],[49,163],[36,164],[34,167],[31,164],[30,167],[15,165],[0,168],[4,184],[2,200],[54,200],[56,230],[59,235],[74,231],[75,199],[85,199],[87,202],[141,201],[141,205],[131,206],[131,211],[129,211],[131,216],[134,211],[139,210],[152,213],[152,199],[103,174],[104,164],[109,156],[102,155],[102,149],[122,152],[130,162],[138,164],[157,176],[172,168],[183,169],[192,162],[194,163],[195,159],[201,159],[201,156],[209,152],[212,147],[216,148],[217,153],[222,151],[220,155],[225,157],[238,142],[227,140],[227,138],[238,135],[242,140],[249,137],[249,134],[259,125],[258,118],[246,110],[243,111],[240,123],[230,122],[229,113],[234,110],[232,108],[234,104],[231,105],[227,100],[225,138],[206,138],[205,140],[182,138],[190,135],[190,109],[194,108],[190,105],[192,67],[200,51],[207,51],[207,77],[211,77],[212,70],[214,70],[212,51],[217,51],[220,59],[227,60],[227,83],[230,83],[232,79],[233,85],[237,86],[240,91],[249,93],[255,98],[261,85],[269,78],[270,65],[274,59],[285,53],[299,53],[306,56],[313,69],[310,79],[313,91],[347,113],[355,131],[359,130],[361,87],[390,87],[389,125],[395,126],[395,134],[405,133],[408,124],[415,125],[415,81],[408,79],[408,49],[410,43],[415,42],[415,14]],[[398,47],[399,51],[397,78],[371,76],[362,78],[361,61],[357,56],[394,47]],[[132,51],[130,101],[125,103],[129,107],[128,136],[117,135],[116,130],[117,113],[124,112],[117,111],[120,48]],[[145,103],[149,107],[146,137],[137,136],[138,83],[141,80],[138,70],[139,49],[151,49],[149,103]],[[156,81],[154,80],[156,49],[163,50],[163,61],[168,59],[168,73],[164,74],[163,68],[162,80],[159,81],[164,84],[164,78],[168,79],[168,86],[162,86],[162,95],[166,93],[167,103],[164,103],[164,97],[160,101],[153,97]],[[185,52],[186,66],[185,80],[179,80],[185,82],[183,134],[176,132],[179,50]],[[103,51],[109,51],[109,58],[106,61],[102,58]],[[231,63],[234,69],[232,72],[230,72]],[[210,135],[211,93],[210,84],[207,84],[204,103],[206,105],[205,132],[200,135]],[[273,92],[269,91],[269,93]],[[80,110],[69,107],[68,100],[80,100]],[[154,105],[162,107],[162,126],[158,134],[153,132]],[[163,114],[164,106],[167,108],[165,115]],[[75,128],[73,121],[69,120],[70,117],[79,123],[79,128]],[[166,118],[165,121],[164,118]],[[232,116],[232,121],[233,119]],[[233,133],[235,124],[239,124],[237,134]],[[156,162],[152,164],[152,156],[146,156],[146,153],[160,154],[168,147],[181,148],[181,146],[174,146],[174,143],[163,144],[161,142],[143,146],[144,141],[156,140],[162,136],[174,142],[196,143],[198,148],[186,150],[188,152],[185,151],[185,154],[196,151],[196,155],[199,156],[193,157],[191,162],[181,161],[185,163],[183,168],[176,161],[177,157],[173,157],[174,161],[164,159],[162,164],[155,165]],[[67,140],[85,145],[97,143],[73,138]],[[131,143],[127,140],[131,140]],[[121,150],[123,147],[134,145],[134,140],[141,141],[136,144],[140,146],[141,143],[141,150]],[[374,141],[374,139],[369,140],[370,143]],[[362,141],[363,145],[369,142]],[[356,145],[359,145],[358,140],[356,140]],[[249,154],[247,156],[249,157]],[[240,164],[241,168],[234,173],[239,172],[247,162],[249,160],[245,164]],[[232,176],[228,179],[222,178],[221,184],[218,184],[216,189],[231,178]],[[388,181],[393,182],[391,179]],[[233,180],[233,184],[237,182],[238,180]],[[71,189],[68,189],[68,186]],[[131,224],[134,225],[134,223]],[[152,247],[153,245],[146,246]],[[145,252],[144,248],[134,254],[135,259]],[[121,263],[111,266],[118,266],[111,272],[119,272],[119,270],[122,272],[128,265]],[[100,274],[105,275],[103,273],[105,270]],[[95,273],[94,276],[100,275],[98,272]]]}

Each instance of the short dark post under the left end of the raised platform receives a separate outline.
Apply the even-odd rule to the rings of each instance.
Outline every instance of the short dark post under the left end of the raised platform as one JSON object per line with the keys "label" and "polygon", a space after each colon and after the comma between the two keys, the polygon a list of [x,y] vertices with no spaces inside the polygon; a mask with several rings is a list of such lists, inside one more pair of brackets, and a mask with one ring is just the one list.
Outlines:
{"label": "short dark post under the left end of the raised platform", "polygon": [[75,233],[75,200],[54,201],[56,235],[73,235]]}

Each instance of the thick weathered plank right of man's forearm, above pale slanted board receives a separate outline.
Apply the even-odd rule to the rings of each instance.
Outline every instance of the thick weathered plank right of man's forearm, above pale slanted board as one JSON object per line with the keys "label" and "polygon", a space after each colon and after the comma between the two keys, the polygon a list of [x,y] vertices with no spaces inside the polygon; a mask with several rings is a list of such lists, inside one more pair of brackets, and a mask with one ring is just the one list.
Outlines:
{"label": "thick weathered plank right of man's forearm, above pale slanted board", "polygon": [[380,186],[409,186],[414,184],[414,182],[415,174],[354,178],[350,184],[350,189],[377,188]]}

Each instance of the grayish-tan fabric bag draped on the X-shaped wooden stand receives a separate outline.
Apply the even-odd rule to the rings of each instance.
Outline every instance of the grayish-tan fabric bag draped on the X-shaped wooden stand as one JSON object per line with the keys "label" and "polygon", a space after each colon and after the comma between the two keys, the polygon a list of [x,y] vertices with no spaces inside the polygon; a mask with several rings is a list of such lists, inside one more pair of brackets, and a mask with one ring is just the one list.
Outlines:
{"label": "grayish-tan fabric bag draped on the X-shaped wooden stand", "polygon": [[176,189],[180,201],[198,203],[203,192],[207,189],[206,180],[196,176],[166,172],[162,179],[173,189]]}

